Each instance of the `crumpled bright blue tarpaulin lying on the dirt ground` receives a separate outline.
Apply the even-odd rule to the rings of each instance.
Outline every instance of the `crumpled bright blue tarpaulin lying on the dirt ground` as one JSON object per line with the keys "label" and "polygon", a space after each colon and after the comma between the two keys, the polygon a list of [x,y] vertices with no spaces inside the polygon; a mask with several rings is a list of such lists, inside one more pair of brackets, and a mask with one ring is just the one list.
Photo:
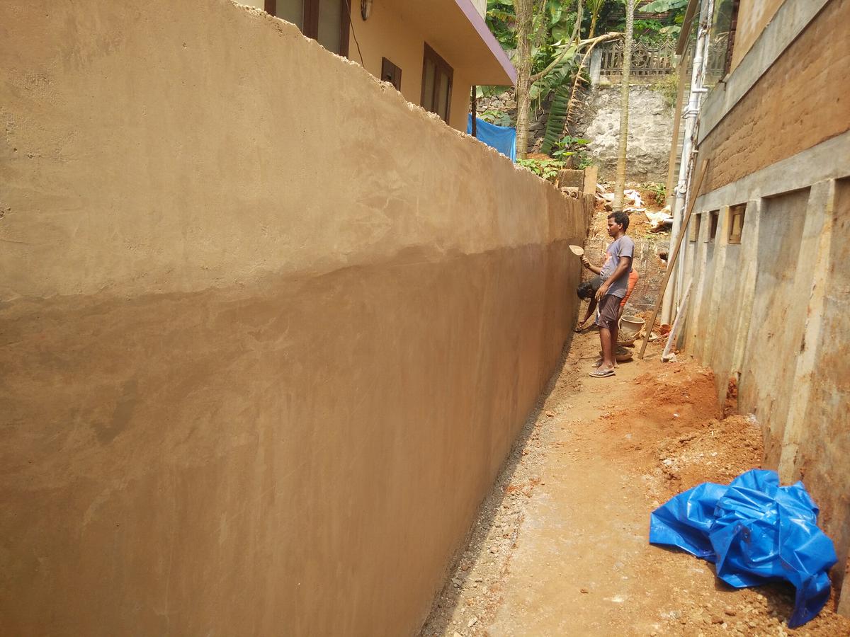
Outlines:
{"label": "crumpled bright blue tarpaulin lying on the dirt ground", "polygon": [[780,487],[775,471],[753,469],[728,486],[704,482],[653,511],[649,542],[669,544],[717,565],[735,588],[785,580],[796,588],[789,628],[815,617],[830,597],[832,540],[802,482]]}

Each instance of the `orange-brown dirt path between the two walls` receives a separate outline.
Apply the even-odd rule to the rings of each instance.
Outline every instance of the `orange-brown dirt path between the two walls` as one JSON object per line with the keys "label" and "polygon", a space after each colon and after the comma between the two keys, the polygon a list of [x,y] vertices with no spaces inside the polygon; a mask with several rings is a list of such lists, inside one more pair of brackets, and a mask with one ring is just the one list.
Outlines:
{"label": "orange-brown dirt path between the two walls", "polygon": [[731,589],[706,561],[649,545],[656,506],[762,457],[734,392],[718,405],[710,369],[662,364],[660,349],[594,379],[598,335],[576,335],[423,635],[850,634],[834,600],[791,630],[790,586]]}

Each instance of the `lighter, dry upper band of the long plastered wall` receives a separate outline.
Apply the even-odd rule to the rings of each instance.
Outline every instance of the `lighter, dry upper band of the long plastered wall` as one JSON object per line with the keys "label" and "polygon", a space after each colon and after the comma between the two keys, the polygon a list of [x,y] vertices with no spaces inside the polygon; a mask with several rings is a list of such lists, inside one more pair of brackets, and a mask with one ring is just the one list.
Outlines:
{"label": "lighter, dry upper band of the long plastered wall", "polygon": [[[37,61],[24,57],[16,42],[0,45],[0,58],[11,63],[0,65],[0,80],[15,72],[46,73],[52,90],[43,113],[33,115],[32,100],[26,96],[16,96],[6,106],[12,119],[28,118],[26,127],[13,127],[8,141],[21,149],[33,147],[38,158],[30,164],[16,159],[14,166],[0,166],[3,172],[11,167],[16,173],[4,201],[10,211],[0,224],[0,239],[8,245],[0,253],[0,268],[8,273],[0,299],[194,291],[242,285],[267,273],[328,273],[387,260],[422,245],[433,247],[434,255],[474,254],[550,243],[567,234],[573,240],[581,234],[584,204],[571,203],[574,200],[564,198],[551,183],[479,140],[473,144],[472,137],[411,104],[356,62],[326,51],[295,25],[264,11],[230,0],[205,4],[209,6],[201,11],[203,22],[195,20],[198,8],[189,13],[165,0],[134,7],[139,15],[132,17],[144,20],[144,30],[126,27],[128,16],[121,5],[84,7],[78,17],[94,25],[87,37],[95,44],[110,37],[123,39],[108,55],[83,59],[71,73],[58,72],[50,56],[80,42],[75,35],[65,36],[57,23],[49,24],[52,31],[40,37],[55,41],[63,36],[69,42],[55,42]],[[62,11],[51,13],[59,23]],[[19,39],[43,27],[26,6],[16,17],[12,32]],[[126,31],[111,32],[119,28],[116,25]],[[210,32],[216,37],[209,37]],[[275,32],[284,37],[284,48],[276,48]],[[156,65],[151,66],[145,54],[156,56]],[[198,70],[206,74],[206,83],[196,80]],[[324,81],[312,82],[313,77]],[[122,85],[131,80],[147,85],[135,88],[133,96],[121,95]],[[183,127],[158,121],[151,129],[137,110],[139,100],[130,98],[144,93],[147,108],[159,108],[166,120],[173,120],[169,109],[175,104],[150,90],[163,82],[169,87],[182,82],[181,99],[207,107],[197,107],[207,119],[186,118],[188,124],[180,122]],[[309,84],[293,93],[291,86],[281,87],[286,82]],[[97,90],[89,92],[92,87]],[[115,110],[106,113],[106,119],[124,128],[83,130],[77,138],[70,137],[73,143],[61,149],[65,156],[58,159],[59,137],[65,136],[75,116],[94,109],[95,98],[89,96],[95,93],[119,93],[114,104],[106,104]],[[228,95],[241,100],[241,110],[225,103]],[[290,116],[287,99],[297,108],[303,95],[310,96],[309,103]],[[263,111],[269,104],[278,106],[275,99],[282,99],[286,116]],[[369,104],[370,112],[363,116],[354,110],[356,104]],[[315,110],[323,112],[316,115]],[[152,115],[144,113],[149,119]],[[354,132],[341,125],[351,116],[362,116],[351,125],[357,127]],[[315,120],[312,128],[302,121],[310,117]],[[328,127],[331,135],[320,138]],[[142,128],[147,137],[133,138]],[[387,128],[394,138],[372,144],[386,138]],[[319,137],[310,137],[312,132]],[[14,139],[19,134],[26,139]],[[209,156],[214,155],[209,140],[217,134],[218,145],[212,149],[221,155],[220,165]],[[168,136],[173,137],[166,143]],[[267,144],[268,136],[281,141]],[[260,140],[255,140],[254,155],[246,155],[231,139],[246,137]],[[327,151],[328,144],[337,144],[334,152]],[[175,145],[195,166],[169,155]],[[131,157],[137,163],[116,174],[117,162],[143,155],[136,152],[139,146],[148,155],[147,165]],[[305,149],[319,149],[326,163],[304,161],[313,157]],[[349,156],[340,157],[347,152]],[[82,163],[81,158],[95,161],[73,172],[71,166]],[[156,159],[167,166],[157,166]],[[259,178],[257,172],[269,171],[274,162],[274,174]],[[139,169],[147,173],[139,174]],[[110,174],[114,178],[109,179]],[[211,174],[222,183],[210,183]],[[305,187],[304,176],[309,180],[317,174],[322,178]],[[39,183],[47,179],[61,196],[38,196]],[[128,179],[135,179],[134,186]],[[165,182],[172,189],[155,192],[152,186],[139,187],[139,181]],[[185,183],[185,189],[174,189],[173,182]],[[433,183],[439,188],[431,188]],[[216,192],[221,193],[218,199]],[[174,195],[183,201],[175,202]],[[116,206],[116,201],[121,204]],[[556,217],[564,218],[554,218],[553,208],[561,212]],[[71,210],[82,211],[82,217],[66,214]]]}

